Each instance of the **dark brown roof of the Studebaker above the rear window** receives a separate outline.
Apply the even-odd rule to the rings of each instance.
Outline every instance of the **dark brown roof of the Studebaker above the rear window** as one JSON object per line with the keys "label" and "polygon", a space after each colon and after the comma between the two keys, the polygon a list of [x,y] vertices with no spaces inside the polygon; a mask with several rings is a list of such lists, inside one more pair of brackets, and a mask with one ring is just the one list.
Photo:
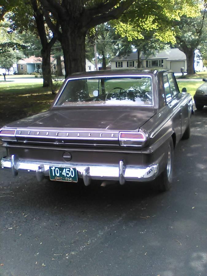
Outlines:
{"label": "dark brown roof of the Studebaker above the rear window", "polygon": [[90,72],[81,72],[71,74],[67,77],[67,79],[71,78],[87,78],[87,77],[97,77],[97,76],[114,76],[114,75],[157,75],[163,74],[166,72],[171,72],[171,70],[165,69],[114,69],[114,70],[99,70],[99,71],[90,71]]}

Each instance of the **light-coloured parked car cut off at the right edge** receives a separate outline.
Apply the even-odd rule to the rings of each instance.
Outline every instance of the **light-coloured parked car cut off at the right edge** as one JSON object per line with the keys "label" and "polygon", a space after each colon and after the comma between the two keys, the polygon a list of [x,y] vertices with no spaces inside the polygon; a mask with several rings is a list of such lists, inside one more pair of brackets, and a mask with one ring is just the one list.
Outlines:
{"label": "light-coloured parked car cut off at the right edge", "polygon": [[194,102],[197,110],[202,110],[204,105],[207,105],[207,79],[203,79],[204,83],[201,84],[194,95]]}

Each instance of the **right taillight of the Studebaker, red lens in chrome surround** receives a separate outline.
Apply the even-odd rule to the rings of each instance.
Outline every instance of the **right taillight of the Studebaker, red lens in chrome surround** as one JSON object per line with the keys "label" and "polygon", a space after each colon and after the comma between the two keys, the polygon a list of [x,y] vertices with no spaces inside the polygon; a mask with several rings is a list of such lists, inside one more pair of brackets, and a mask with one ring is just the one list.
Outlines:
{"label": "right taillight of the Studebaker, red lens in chrome surround", "polygon": [[146,141],[143,132],[119,132],[119,142],[121,146],[142,146]]}

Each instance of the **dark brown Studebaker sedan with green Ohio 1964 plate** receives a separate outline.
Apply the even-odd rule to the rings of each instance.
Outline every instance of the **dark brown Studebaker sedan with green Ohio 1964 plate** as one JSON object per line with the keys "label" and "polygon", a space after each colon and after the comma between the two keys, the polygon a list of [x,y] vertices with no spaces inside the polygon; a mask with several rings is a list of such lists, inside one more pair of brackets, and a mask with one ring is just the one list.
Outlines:
{"label": "dark brown Studebaker sedan with green Ohio 1964 plate", "polygon": [[192,98],[172,71],[111,70],[69,76],[52,107],[0,130],[13,175],[172,184],[174,148],[190,136]]}

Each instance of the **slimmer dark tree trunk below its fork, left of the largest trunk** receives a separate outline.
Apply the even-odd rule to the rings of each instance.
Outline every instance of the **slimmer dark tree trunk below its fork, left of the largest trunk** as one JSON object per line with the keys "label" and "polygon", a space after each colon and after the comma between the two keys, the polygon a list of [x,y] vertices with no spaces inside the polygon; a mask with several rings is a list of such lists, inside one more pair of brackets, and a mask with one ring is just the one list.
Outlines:
{"label": "slimmer dark tree trunk below its fork, left of the largest trunk", "polygon": [[43,87],[52,86],[50,51],[50,47],[41,50]]}

